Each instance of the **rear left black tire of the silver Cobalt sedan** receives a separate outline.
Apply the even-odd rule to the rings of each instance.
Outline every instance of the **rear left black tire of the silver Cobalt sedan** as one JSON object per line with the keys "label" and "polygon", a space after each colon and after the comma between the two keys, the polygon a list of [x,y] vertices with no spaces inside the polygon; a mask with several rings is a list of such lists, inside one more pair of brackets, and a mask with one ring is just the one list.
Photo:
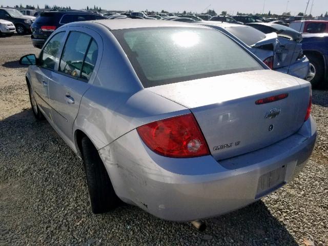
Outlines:
{"label": "rear left black tire of the silver Cobalt sedan", "polygon": [[90,139],[83,137],[81,144],[92,212],[106,213],[118,207],[121,201],[116,196],[104,163]]}

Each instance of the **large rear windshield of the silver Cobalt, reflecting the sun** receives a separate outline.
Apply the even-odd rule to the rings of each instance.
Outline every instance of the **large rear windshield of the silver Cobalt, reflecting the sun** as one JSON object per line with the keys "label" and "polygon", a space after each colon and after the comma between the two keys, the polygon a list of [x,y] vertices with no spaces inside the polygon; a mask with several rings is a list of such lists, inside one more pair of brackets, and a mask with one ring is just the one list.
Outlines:
{"label": "large rear windshield of the silver Cobalt, reflecting the sun", "polygon": [[212,29],[163,27],[112,32],[146,88],[263,69],[232,39]]}

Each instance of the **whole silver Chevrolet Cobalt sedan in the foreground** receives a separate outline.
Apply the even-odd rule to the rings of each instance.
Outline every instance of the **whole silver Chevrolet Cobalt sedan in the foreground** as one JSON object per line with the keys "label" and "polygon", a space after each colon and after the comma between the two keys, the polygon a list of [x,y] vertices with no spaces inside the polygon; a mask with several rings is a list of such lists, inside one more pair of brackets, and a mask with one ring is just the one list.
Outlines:
{"label": "whole silver Chevrolet Cobalt sedan in the foreground", "polygon": [[20,63],[35,117],[84,160],[94,213],[227,213],[290,181],[315,144],[310,83],[209,27],[70,23]]}

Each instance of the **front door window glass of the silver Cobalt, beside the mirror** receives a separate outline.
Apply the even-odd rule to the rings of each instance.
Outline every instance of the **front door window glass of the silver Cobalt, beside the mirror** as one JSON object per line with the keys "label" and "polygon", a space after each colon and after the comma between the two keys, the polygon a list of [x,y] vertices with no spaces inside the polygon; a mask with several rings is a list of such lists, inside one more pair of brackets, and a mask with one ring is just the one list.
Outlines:
{"label": "front door window glass of the silver Cobalt, beside the mirror", "polygon": [[55,69],[64,36],[65,32],[58,32],[46,44],[40,54],[40,66],[52,70]]}

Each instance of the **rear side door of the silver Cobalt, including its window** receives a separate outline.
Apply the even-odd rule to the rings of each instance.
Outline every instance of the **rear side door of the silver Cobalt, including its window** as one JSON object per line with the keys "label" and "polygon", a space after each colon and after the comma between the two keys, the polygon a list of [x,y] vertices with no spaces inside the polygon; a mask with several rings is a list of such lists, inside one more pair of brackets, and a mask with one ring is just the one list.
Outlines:
{"label": "rear side door of the silver Cobalt, including its window", "polygon": [[79,104],[89,89],[99,67],[103,42],[87,28],[67,28],[69,33],[60,56],[58,71],[49,80],[51,115],[56,130],[73,141],[73,122]]}

